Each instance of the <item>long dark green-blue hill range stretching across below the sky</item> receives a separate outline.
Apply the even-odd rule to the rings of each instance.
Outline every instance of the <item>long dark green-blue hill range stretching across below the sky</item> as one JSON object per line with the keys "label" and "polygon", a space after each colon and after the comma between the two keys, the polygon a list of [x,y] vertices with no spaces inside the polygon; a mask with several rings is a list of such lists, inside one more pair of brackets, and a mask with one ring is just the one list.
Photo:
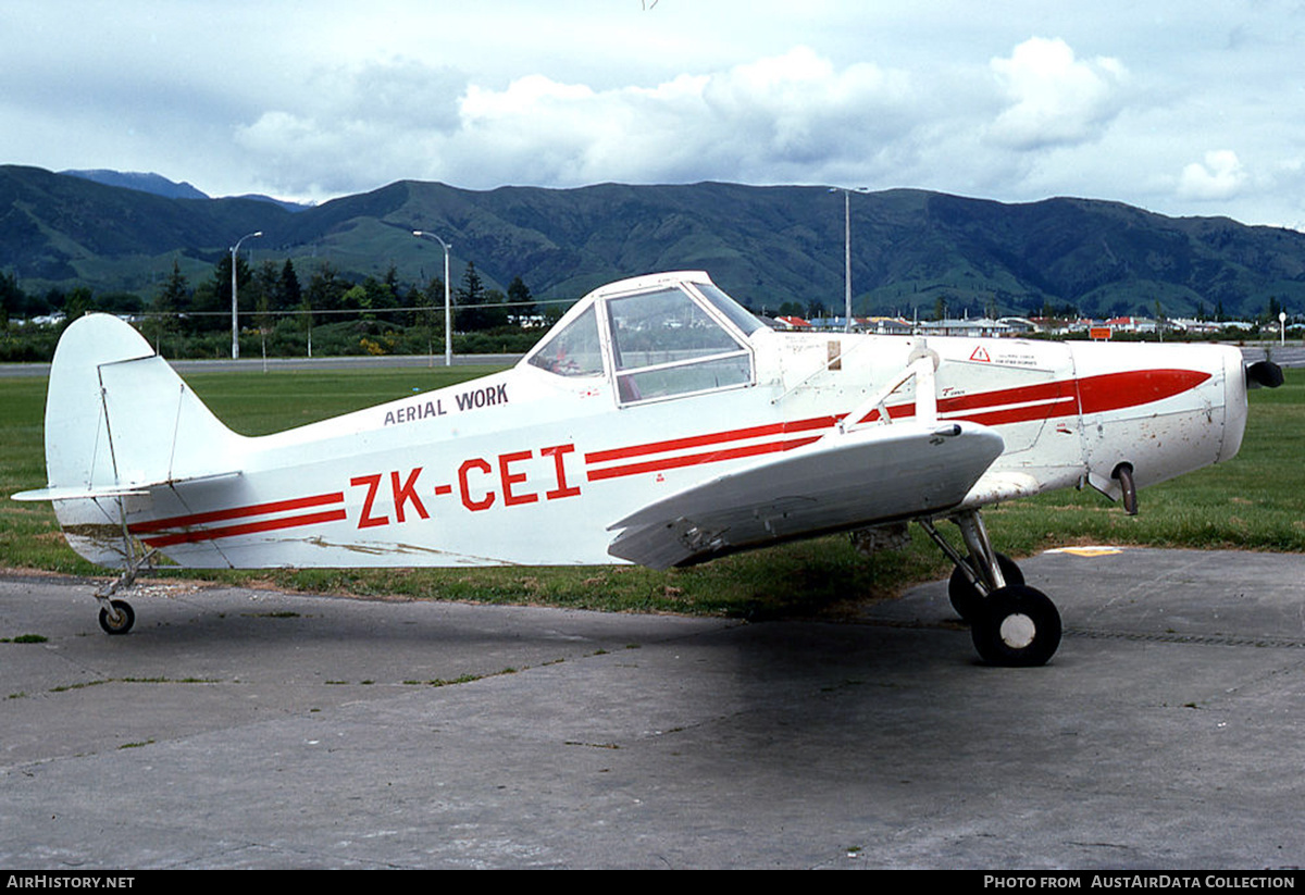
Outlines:
{"label": "long dark green-blue hill range stretching across below the sky", "polygon": [[[521,277],[536,297],[578,297],[600,283],[705,269],[727,291],[775,311],[843,305],[843,200],[818,187],[702,183],[488,192],[399,181],[291,211],[262,198],[167,198],[40,168],[0,166],[0,270],[25,290],[87,284],[151,295],[181,264],[192,284],[245,234],[254,260],[291,258],[303,277],[424,283],[474,261],[487,287]],[[243,249],[244,250],[244,249]],[[1257,314],[1270,297],[1305,305],[1305,235],[1227,218],[1168,218],[1118,202],[1052,198],[1006,205],[916,189],[852,196],[857,313],[1169,316],[1221,305]]]}

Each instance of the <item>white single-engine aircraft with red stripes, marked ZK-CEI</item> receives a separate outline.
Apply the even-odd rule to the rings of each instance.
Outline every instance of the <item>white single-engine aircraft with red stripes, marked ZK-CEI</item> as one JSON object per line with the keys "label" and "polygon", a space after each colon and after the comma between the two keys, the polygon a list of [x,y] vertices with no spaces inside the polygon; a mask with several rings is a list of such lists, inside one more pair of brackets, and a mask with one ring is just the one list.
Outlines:
{"label": "white single-engine aircraft with red stripes, marked ZK-CEI", "polygon": [[[587,295],[515,367],[278,434],[226,428],[129,325],[73,322],[46,407],[68,543],[124,569],[702,562],[916,521],[983,659],[1045,663],[1060,614],[979,511],[1231,458],[1248,382],[1219,346],[776,333],[701,271]],[[936,528],[960,530],[963,549]],[[867,540],[874,540],[867,538]]]}

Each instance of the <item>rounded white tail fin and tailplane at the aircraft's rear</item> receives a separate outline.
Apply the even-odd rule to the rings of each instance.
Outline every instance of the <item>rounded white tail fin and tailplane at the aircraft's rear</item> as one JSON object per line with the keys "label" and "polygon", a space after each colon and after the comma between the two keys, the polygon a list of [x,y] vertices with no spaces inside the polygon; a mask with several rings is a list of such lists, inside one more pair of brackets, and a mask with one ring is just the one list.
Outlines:
{"label": "rounded white tail fin and tailplane at the aircraft's rear", "polygon": [[116,317],[87,314],[59,339],[46,395],[50,500],[78,553],[100,565],[129,558],[125,504],[150,488],[235,475],[244,438]]}

